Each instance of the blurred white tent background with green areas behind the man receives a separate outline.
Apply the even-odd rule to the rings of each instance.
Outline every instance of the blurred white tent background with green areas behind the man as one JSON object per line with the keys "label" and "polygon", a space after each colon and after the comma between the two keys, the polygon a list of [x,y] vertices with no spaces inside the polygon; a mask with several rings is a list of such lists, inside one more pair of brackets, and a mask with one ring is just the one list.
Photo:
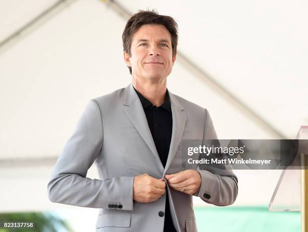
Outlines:
{"label": "blurred white tent background with green areas behind the man", "polygon": [[[148,8],[179,25],[168,89],[207,108],[218,138],[294,139],[308,124],[304,0],[4,0],[0,221],[32,218],[42,225],[33,231],[95,230],[98,209],[51,203],[47,183],[87,102],[130,83],[121,36],[127,19]],[[268,211],[281,170],[235,173],[233,205],[194,197],[199,231],[300,230],[299,212]],[[99,179],[94,165],[87,176]]]}

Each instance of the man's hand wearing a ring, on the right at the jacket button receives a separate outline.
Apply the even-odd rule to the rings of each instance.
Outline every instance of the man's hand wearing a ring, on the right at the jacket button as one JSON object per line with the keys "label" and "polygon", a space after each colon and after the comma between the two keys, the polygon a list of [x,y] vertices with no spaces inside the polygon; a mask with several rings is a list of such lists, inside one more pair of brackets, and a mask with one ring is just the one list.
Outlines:
{"label": "man's hand wearing a ring, on the right at the jacket button", "polygon": [[198,171],[193,169],[165,175],[165,178],[171,188],[190,195],[194,195],[201,186],[201,176]]}

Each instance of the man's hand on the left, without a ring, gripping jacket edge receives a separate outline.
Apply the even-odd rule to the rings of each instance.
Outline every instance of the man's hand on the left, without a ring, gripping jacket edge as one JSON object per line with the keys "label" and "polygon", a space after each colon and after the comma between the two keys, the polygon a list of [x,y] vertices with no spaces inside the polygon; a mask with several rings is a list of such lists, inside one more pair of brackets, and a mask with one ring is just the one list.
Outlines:
{"label": "man's hand on the left, without a ring, gripping jacket edge", "polygon": [[133,199],[142,203],[157,201],[165,193],[165,188],[164,178],[156,179],[148,174],[136,176],[133,184]]}

